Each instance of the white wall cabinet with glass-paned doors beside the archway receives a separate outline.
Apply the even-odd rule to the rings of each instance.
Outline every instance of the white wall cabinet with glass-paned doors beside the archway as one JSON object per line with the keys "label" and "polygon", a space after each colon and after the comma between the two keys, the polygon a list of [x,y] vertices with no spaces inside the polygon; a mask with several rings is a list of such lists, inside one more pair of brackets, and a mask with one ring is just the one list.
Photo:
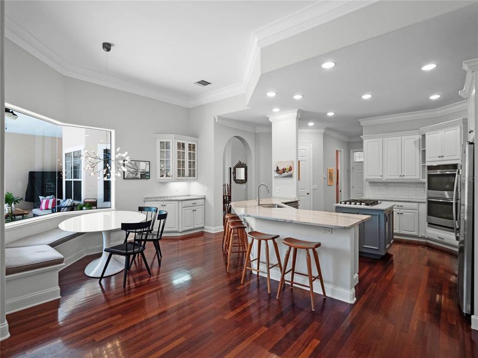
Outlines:
{"label": "white wall cabinet with glass-paned doors beside the archway", "polygon": [[156,179],[158,181],[197,179],[198,139],[179,135],[156,138]]}

